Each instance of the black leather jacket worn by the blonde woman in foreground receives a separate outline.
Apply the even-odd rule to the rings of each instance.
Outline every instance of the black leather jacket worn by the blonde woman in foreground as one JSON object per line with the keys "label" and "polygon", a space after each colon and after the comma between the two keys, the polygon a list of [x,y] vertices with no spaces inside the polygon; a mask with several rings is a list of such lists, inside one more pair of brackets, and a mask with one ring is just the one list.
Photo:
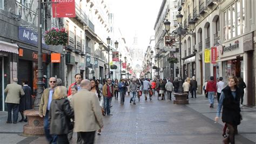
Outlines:
{"label": "black leather jacket worn by the blonde woman in foreground", "polygon": [[52,100],[49,112],[50,134],[68,134],[72,129],[70,119],[73,118],[74,111],[68,99]]}

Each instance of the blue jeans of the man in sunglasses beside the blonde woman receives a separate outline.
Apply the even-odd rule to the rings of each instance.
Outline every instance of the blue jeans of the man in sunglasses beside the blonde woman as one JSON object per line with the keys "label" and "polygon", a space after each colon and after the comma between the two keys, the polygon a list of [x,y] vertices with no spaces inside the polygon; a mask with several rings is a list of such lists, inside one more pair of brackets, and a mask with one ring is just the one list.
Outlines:
{"label": "blue jeans of the man in sunglasses beside the blonde woman", "polygon": [[44,116],[45,137],[50,143],[57,143],[57,135],[51,135],[50,134],[50,123],[49,123],[49,120],[48,120],[48,114],[49,114],[49,111],[47,110],[46,113],[45,113],[45,116]]}

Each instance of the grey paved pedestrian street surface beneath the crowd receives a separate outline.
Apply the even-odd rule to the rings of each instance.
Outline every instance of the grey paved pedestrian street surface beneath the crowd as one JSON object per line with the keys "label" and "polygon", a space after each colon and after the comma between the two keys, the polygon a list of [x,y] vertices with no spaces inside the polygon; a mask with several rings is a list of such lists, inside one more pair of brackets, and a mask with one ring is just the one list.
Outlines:
{"label": "grey paved pedestrian street surface beneath the crowd", "polygon": [[[96,143],[222,143],[223,122],[214,124],[217,104],[209,108],[203,95],[190,98],[189,105],[174,105],[173,101],[144,100],[130,105],[112,100],[112,116],[104,116],[102,135]],[[174,98],[173,98],[174,99]],[[256,142],[256,109],[242,108],[243,120],[238,126],[236,143]],[[0,112],[0,143],[47,143],[44,137],[19,136],[24,122],[5,124],[6,112]],[[76,143],[76,133],[73,135]]]}

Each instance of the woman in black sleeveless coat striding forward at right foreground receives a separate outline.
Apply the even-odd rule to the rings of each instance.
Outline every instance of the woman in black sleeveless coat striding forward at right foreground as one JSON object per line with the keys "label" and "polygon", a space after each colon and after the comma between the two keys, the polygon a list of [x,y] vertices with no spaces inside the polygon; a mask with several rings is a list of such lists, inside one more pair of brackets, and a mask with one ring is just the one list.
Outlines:
{"label": "woman in black sleeveless coat striding forward at right foreground", "polygon": [[224,143],[234,143],[234,135],[237,133],[237,126],[240,124],[242,119],[239,105],[242,92],[237,85],[237,77],[232,76],[228,78],[228,86],[226,86],[220,94],[215,121],[219,120],[220,110],[223,106],[222,121],[225,122],[228,129],[230,129],[228,137],[223,140]]}

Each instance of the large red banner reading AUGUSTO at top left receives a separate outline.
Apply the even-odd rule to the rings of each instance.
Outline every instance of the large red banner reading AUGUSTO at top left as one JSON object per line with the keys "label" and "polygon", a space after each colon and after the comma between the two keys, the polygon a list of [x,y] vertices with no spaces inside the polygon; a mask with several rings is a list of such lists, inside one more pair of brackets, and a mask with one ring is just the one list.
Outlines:
{"label": "large red banner reading AUGUSTO at top left", "polygon": [[75,0],[52,0],[52,17],[76,17]]}

